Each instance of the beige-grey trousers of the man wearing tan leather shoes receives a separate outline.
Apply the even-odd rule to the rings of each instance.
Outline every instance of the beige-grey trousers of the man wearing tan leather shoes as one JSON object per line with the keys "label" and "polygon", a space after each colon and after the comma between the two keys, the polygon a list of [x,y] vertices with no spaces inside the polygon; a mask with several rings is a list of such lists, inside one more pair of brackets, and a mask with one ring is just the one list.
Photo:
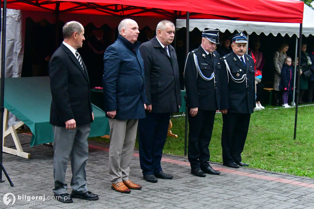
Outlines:
{"label": "beige-grey trousers of the man wearing tan leather shoes", "polygon": [[109,118],[109,126],[109,175],[113,184],[129,179],[138,119],[117,120]]}

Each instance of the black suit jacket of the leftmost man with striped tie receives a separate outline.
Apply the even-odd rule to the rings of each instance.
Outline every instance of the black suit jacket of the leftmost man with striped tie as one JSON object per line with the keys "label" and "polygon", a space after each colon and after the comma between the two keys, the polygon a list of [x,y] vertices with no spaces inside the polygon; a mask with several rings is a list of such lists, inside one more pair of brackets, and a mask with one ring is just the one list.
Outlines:
{"label": "black suit jacket of the leftmost man with striped tie", "polygon": [[90,103],[89,79],[74,54],[63,43],[53,53],[48,71],[51,88],[50,123],[65,126],[74,119],[76,126],[93,122]]}

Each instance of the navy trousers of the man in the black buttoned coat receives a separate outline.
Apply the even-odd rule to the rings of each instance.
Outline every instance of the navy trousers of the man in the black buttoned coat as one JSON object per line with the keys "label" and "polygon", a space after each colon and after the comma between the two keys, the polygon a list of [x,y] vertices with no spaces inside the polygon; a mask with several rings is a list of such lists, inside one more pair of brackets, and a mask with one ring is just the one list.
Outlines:
{"label": "navy trousers of the man in the black buttoned coat", "polygon": [[161,157],[164,149],[170,113],[149,113],[138,120],[139,162],[143,175],[161,171]]}

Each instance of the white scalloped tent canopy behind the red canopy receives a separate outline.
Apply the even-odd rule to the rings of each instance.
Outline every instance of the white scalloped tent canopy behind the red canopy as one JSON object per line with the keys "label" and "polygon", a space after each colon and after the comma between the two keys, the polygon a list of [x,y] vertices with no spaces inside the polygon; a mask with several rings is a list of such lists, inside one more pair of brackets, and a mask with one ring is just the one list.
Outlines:
{"label": "white scalloped tent canopy behind the red canopy", "polygon": [[[314,10],[309,6],[304,4],[304,13],[303,13],[303,26],[302,34],[308,37],[311,34],[314,34]],[[177,28],[185,28],[186,20],[178,19]],[[194,28],[203,30],[204,28],[215,28],[219,29],[221,32],[229,30],[233,33],[237,31],[246,31],[248,34],[255,32],[257,35],[264,33],[265,35],[273,34],[277,36],[278,34],[284,36],[285,34],[297,35],[300,34],[300,24],[297,23],[270,23],[270,22],[252,22],[252,21],[237,21],[237,20],[218,20],[218,19],[190,19],[190,28],[192,31]]]}

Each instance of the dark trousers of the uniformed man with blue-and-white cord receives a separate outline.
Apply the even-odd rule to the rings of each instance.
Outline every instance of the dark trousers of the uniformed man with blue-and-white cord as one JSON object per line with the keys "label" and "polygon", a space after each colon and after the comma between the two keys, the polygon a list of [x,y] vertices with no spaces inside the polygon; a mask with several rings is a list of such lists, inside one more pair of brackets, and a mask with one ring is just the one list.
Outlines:
{"label": "dark trousers of the uniformed man with blue-and-white cord", "polygon": [[190,128],[187,156],[192,169],[209,166],[208,146],[212,137],[215,113],[216,111],[198,110],[194,117],[188,114]]}

